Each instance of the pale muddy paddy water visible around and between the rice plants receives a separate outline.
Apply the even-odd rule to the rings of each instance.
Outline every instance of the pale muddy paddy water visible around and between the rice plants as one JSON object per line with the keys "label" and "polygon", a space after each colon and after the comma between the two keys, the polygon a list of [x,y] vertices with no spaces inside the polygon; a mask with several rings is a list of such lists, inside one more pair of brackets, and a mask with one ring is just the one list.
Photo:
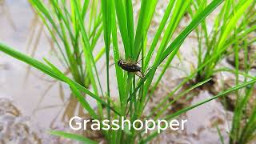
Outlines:
{"label": "pale muddy paddy water visible around and between the rice plants", "polygon": [[[134,2],[134,6],[136,13],[139,7],[138,1]],[[164,3],[158,5],[158,17],[154,18],[155,25],[158,25],[159,17],[164,13],[163,6],[165,6]],[[186,26],[188,21],[188,19],[183,20],[182,26]],[[155,27],[151,26],[150,30],[152,31],[152,36],[154,36]],[[36,14],[34,14],[26,0],[0,0],[0,41],[14,46],[26,54],[30,54],[34,58],[48,58],[50,62],[54,62],[55,65],[64,70],[50,50],[52,44],[48,37],[49,35],[42,28],[42,24],[38,22]],[[166,91],[170,91],[178,84],[179,81],[176,82],[177,79],[190,73],[188,67],[191,68],[196,65],[196,63],[193,63],[195,56],[192,48],[197,45],[192,37],[193,34],[190,35],[190,38],[186,40],[181,48],[182,58],[185,59],[184,63],[178,61],[178,58],[175,58],[173,62],[173,65],[182,69],[182,73],[181,70],[175,69],[167,71],[166,77],[163,78],[161,83],[162,86],[165,86],[165,89],[160,89],[160,92],[158,90],[156,93],[158,97],[150,102],[147,107],[148,110],[159,102],[161,95],[165,96]],[[31,69],[26,64],[18,62],[5,54],[1,53],[0,58],[0,98],[7,98],[8,100],[5,99],[2,102],[10,104],[8,105],[9,107],[4,107],[2,110],[11,107],[18,108],[18,110],[15,108],[14,112],[11,113],[11,118],[6,117],[10,112],[5,111],[5,113],[2,113],[0,122],[5,122],[9,118],[11,119],[10,122],[13,122],[13,127],[21,123],[22,126],[29,126],[31,130],[27,130],[30,131],[30,133],[27,132],[27,136],[33,138],[31,142],[38,141],[37,135],[48,140],[43,143],[59,141],[59,139],[45,134],[44,130],[49,128],[66,129],[63,121],[65,122],[66,119],[75,115],[74,112],[78,109],[78,103],[70,98],[68,86],[55,82],[52,78],[38,72],[38,70]],[[102,58],[99,63],[104,64],[104,59]],[[111,74],[114,74],[114,70],[111,71]],[[105,75],[102,74],[101,77],[104,78]],[[114,83],[111,83],[110,86],[113,86],[113,94],[117,94],[114,91],[116,90]],[[206,90],[199,91],[194,94],[190,104],[200,102],[203,99],[210,98],[210,96],[211,94]],[[172,112],[170,110],[167,113]],[[182,118],[188,119],[185,131],[175,133],[166,131],[156,138],[154,142],[220,143],[216,123],[218,123],[218,128],[227,142],[226,131],[229,130],[231,116],[232,114],[226,113],[220,102],[209,102],[182,115]],[[16,129],[12,130],[15,132]],[[62,140],[61,142],[67,141]]]}

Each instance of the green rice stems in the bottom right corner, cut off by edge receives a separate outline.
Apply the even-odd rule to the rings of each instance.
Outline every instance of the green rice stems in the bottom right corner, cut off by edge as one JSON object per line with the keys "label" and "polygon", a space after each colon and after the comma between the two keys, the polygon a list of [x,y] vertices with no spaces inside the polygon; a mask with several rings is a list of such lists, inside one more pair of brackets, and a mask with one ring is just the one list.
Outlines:
{"label": "green rice stems in the bottom right corner, cut off by edge", "polygon": [[234,117],[230,130],[230,144],[250,143],[255,138],[256,106],[249,108],[254,83],[244,89],[244,94],[237,94],[238,99],[234,108]]}

